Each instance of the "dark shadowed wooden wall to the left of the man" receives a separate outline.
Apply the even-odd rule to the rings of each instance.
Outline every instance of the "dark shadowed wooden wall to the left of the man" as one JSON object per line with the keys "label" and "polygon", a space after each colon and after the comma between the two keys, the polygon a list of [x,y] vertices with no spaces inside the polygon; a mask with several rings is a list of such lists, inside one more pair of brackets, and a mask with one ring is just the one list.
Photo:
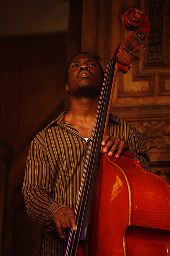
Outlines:
{"label": "dark shadowed wooden wall to the left of the man", "polygon": [[65,110],[67,33],[0,38],[0,46],[0,146],[14,152],[0,161],[1,255],[40,255],[44,229],[28,216],[21,191],[31,140]]}

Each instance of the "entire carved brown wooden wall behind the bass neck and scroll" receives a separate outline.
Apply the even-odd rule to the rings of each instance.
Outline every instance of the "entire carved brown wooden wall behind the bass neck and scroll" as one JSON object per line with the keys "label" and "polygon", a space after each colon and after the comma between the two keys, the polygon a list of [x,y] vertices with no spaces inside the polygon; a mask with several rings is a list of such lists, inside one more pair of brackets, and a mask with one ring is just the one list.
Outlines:
{"label": "entire carved brown wooden wall behind the bass neck and scroll", "polygon": [[[145,47],[148,50],[140,46],[135,52],[141,57],[140,61],[132,58],[131,70],[126,75],[118,74],[112,112],[139,127],[147,142],[152,171],[170,183],[169,5],[169,0],[100,0],[98,5],[96,1],[88,1],[88,9],[83,5],[82,47],[95,54],[106,70],[106,63],[117,45],[131,34],[122,26],[124,12],[137,8],[148,16],[151,25]],[[86,23],[91,27],[84,31]]]}

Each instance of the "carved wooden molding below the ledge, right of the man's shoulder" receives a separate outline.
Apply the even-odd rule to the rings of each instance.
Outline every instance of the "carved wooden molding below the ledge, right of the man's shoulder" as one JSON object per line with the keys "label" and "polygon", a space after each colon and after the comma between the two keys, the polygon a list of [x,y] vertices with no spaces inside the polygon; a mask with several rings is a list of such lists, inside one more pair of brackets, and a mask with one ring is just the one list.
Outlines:
{"label": "carved wooden molding below the ledge, right of the man's shoulder", "polygon": [[141,131],[151,162],[156,162],[153,172],[162,170],[164,163],[164,173],[168,172],[170,169],[167,162],[170,162],[170,105],[129,107],[119,110],[117,108],[117,112],[113,110],[113,113]]}

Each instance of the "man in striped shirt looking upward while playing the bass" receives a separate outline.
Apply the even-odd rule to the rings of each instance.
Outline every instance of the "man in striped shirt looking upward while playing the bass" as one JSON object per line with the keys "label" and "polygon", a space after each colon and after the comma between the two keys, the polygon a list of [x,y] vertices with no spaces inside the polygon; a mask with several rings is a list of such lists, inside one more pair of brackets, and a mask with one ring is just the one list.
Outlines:
{"label": "man in striped shirt looking upward while playing the bass", "polygon": [[[69,228],[76,228],[74,210],[79,194],[91,131],[94,127],[103,70],[87,53],[74,56],[66,69],[66,90],[71,108],[37,134],[31,144],[23,194],[27,211],[46,226],[41,255],[64,255]],[[137,128],[111,115],[104,152],[112,156],[123,150],[139,159],[150,171],[145,142]]]}

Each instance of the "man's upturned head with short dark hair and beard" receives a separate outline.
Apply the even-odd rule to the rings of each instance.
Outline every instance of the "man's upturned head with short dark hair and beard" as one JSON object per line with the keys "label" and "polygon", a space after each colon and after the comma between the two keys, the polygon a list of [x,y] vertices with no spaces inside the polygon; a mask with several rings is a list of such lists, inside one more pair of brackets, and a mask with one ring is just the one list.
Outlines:
{"label": "man's upturned head with short dark hair and beard", "polygon": [[100,96],[102,76],[99,64],[88,54],[75,56],[68,67],[66,90],[74,97]]}

